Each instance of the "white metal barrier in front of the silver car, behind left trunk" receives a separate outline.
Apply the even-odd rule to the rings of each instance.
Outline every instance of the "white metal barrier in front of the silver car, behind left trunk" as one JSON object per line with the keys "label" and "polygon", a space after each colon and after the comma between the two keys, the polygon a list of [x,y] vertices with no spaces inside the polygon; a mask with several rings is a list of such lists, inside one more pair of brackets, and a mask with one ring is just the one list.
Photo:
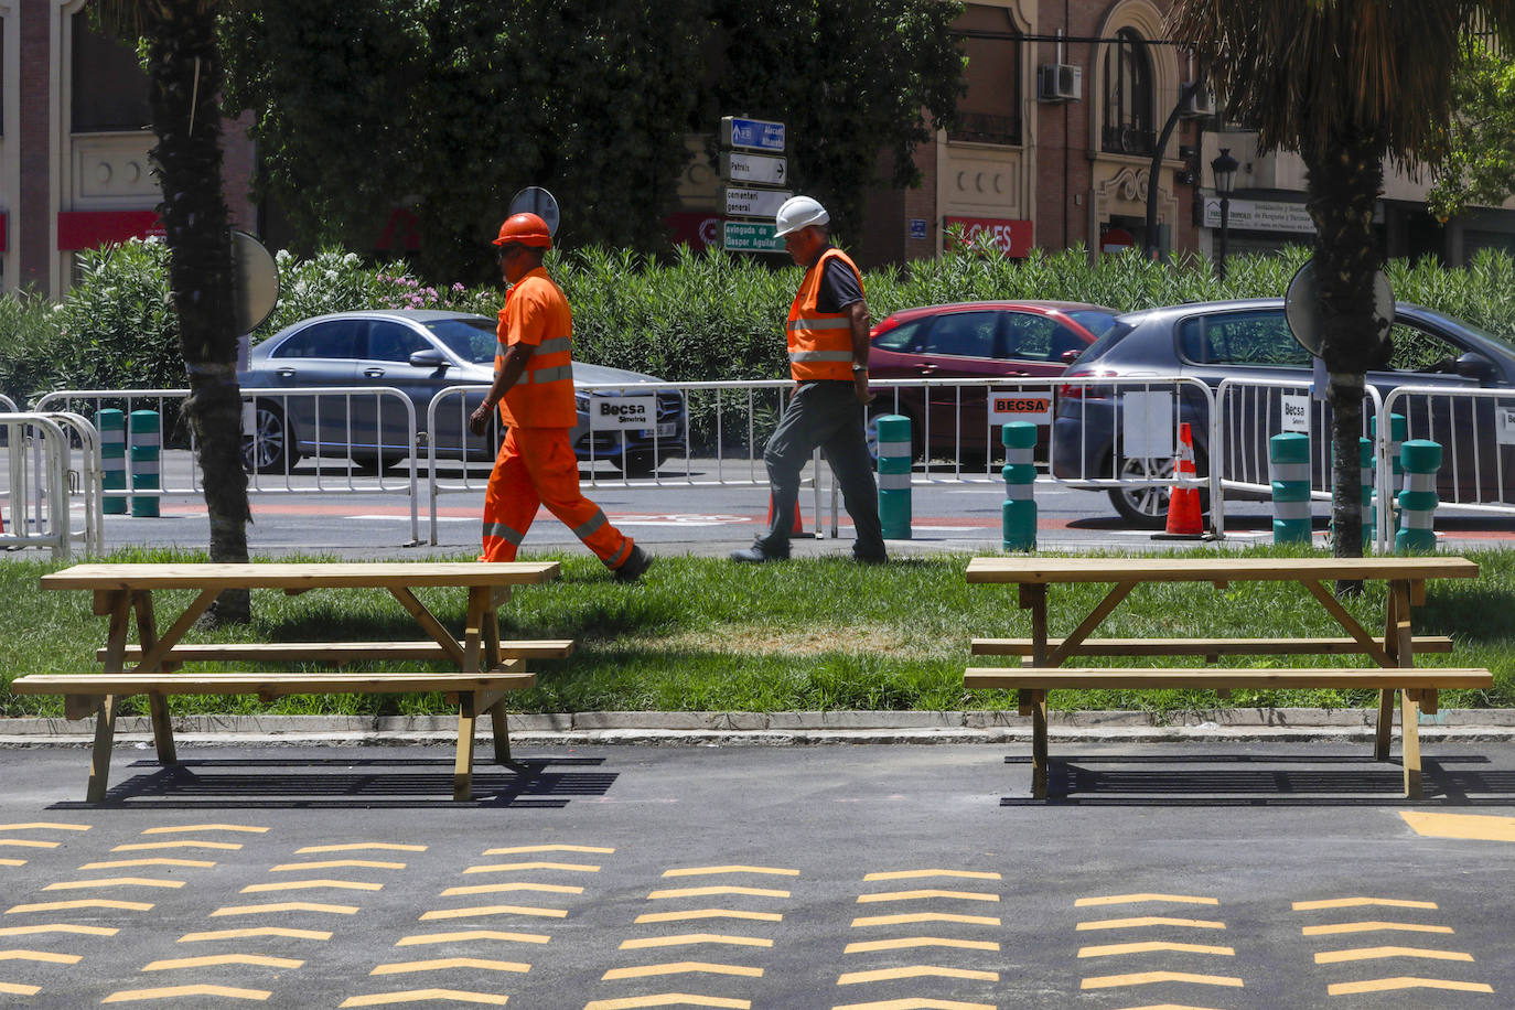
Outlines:
{"label": "white metal barrier in front of the silver car, behind left trunk", "polygon": [[[205,485],[194,436],[182,422],[188,395],[188,389],[61,389],[38,398],[33,410],[71,407],[89,418],[106,407],[127,416],[155,410],[162,418],[164,448],[189,451],[186,459],[162,468],[159,488],[130,494],[200,495]],[[411,542],[420,542],[415,403],[405,392],[392,386],[244,389],[242,413],[248,495],[406,495]],[[309,457],[311,465],[295,472],[301,457]],[[386,474],[400,462],[401,474]]]}

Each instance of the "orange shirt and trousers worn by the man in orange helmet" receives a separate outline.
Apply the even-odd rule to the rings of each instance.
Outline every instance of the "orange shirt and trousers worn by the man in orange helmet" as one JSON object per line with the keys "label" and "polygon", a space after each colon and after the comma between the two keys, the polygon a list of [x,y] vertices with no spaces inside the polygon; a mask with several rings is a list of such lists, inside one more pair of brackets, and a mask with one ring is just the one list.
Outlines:
{"label": "orange shirt and trousers worn by the man in orange helmet", "polygon": [[573,394],[573,313],[562,289],[538,267],[504,298],[495,330],[495,371],[506,350],[536,350],[520,380],[500,400],[509,432],[483,495],[482,562],[511,562],[532,528],[538,506],[547,506],[608,568],[632,556],[632,538],[604,518],[579,491],[579,460],[568,444],[577,422]]}

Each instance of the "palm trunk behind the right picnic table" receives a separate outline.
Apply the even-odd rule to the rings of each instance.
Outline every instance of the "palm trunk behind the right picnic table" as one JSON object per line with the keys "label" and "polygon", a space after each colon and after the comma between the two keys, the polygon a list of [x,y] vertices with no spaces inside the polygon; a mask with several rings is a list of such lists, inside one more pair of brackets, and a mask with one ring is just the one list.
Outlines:
{"label": "palm trunk behind the right picnic table", "polygon": [[[1332,545],[1336,557],[1362,557],[1364,376],[1382,354],[1373,289],[1382,265],[1373,209],[1383,188],[1383,138],[1339,136],[1304,150],[1310,218],[1315,221],[1315,283],[1323,324],[1321,357],[1330,373]],[[1348,591],[1350,586],[1338,586]]]}

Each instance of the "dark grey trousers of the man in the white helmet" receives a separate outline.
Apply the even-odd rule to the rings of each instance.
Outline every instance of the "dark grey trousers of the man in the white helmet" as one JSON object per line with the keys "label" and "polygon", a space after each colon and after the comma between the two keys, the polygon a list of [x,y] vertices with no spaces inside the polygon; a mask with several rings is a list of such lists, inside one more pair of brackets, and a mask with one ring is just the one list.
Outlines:
{"label": "dark grey trousers of the man in the white helmet", "polygon": [[768,531],[758,538],[758,547],[776,557],[789,553],[800,471],[817,445],[836,474],[847,515],[857,531],[853,554],[865,560],[883,560],[879,486],[873,479],[873,459],[864,438],[862,407],[857,404],[856,386],[850,382],[806,382],[789,397],[789,406],[762,454],[773,492],[773,521]]}

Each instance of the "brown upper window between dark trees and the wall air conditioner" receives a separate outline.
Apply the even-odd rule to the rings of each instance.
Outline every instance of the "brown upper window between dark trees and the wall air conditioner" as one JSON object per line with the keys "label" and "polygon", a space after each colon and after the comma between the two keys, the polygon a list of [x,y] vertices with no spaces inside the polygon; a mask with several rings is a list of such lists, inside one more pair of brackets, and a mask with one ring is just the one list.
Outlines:
{"label": "brown upper window between dark trees and the wall air conditioner", "polygon": [[968,58],[967,94],[948,141],[974,144],[1021,142],[1021,38],[1011,12],[970,3],[954,24]]}

